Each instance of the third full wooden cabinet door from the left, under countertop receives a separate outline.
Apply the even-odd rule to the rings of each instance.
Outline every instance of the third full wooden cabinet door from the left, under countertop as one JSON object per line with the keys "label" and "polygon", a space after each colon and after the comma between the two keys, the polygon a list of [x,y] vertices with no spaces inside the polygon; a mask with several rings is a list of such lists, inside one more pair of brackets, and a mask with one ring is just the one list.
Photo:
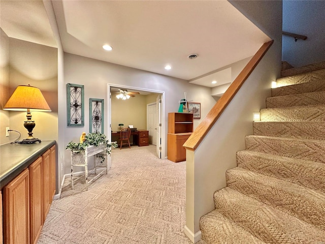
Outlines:
{"label": "third full wooden cabinet door from the left, under countertop", "polygon": [[43,221],[45,222],[46,216],[50,210],[52,200],[52,186],[51,186],[51,158],[50,149],[43,155]]}

